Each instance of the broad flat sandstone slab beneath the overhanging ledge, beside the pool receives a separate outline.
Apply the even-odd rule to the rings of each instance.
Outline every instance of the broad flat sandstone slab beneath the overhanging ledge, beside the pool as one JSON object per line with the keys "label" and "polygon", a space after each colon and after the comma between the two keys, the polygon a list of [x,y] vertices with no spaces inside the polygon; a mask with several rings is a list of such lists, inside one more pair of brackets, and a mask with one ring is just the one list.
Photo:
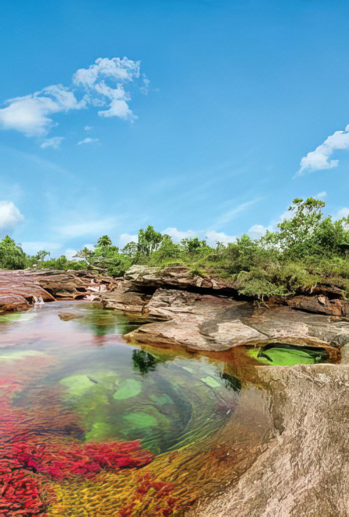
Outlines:
{"label": "broad flat sandstone slab beneath the overhanging ledge, beside the pool", "polygon": [[313,347],[341,347],[349,342],[348,321],[329,321],[327,316],[289,307],[260,309],[223,296],[176,289],[157,289],[142,312],[159,321],[133,330],[126,339],[202,351],[270,342]]}

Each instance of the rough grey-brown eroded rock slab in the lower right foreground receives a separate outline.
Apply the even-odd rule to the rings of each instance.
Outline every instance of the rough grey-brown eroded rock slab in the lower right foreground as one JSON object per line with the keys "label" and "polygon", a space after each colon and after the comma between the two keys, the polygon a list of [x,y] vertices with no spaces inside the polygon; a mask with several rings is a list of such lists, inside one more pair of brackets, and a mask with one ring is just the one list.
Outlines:
{"label": "rough grey-brown eroded rock slab in the lower right foreground", "polygon": [[272,396],[275,438],[196,517],[349,515],[348,365],[256,367]]}

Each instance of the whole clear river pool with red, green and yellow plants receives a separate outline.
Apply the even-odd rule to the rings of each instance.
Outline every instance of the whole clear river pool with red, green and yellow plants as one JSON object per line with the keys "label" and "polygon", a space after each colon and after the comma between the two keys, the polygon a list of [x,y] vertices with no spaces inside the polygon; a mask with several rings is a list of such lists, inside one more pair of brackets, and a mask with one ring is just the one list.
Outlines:
{"label": "whole clear river pool with red, green and yellow plants", "polygon": [[126,344],[142,322],[81,302],[0,316],[0,515],[180,515],[258,455],[259,417],[235,417],[254,360]]}

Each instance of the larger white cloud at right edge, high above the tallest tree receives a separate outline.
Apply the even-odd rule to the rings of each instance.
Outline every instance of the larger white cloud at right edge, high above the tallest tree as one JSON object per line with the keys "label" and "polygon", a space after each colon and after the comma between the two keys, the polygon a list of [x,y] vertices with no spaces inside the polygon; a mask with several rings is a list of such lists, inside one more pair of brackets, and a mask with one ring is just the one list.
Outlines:
{"label": "larger white cloud at right edge, high above the tallest tree", "polygon": [[339,164],[339,160],[332,160],[330,156],[335,150],[349,149],[349,125],[345,131],[335,131],[326,138],[325,142],[316,147],[315,151],[303,156],[296,176],[302,176],[313,170],[332,169]]}

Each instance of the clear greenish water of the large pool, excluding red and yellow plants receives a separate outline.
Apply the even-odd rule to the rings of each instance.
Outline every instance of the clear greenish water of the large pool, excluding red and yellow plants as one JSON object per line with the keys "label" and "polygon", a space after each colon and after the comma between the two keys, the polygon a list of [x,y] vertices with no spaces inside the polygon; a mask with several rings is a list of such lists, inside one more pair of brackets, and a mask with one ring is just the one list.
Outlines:
{"label": "clear greenish water of the large pool, excluding red and yellow plants", "polygon": [[28,379],[13,405],[45,411],[54,396],[56,412],[59,403],[79,417],[67,435],[140,439],[156,454],[215,432],[237,405],[239,381],[207,358],[126,344],[122,334],[140,323],[77,302],[0,316],[1,372],[17,363]]}

